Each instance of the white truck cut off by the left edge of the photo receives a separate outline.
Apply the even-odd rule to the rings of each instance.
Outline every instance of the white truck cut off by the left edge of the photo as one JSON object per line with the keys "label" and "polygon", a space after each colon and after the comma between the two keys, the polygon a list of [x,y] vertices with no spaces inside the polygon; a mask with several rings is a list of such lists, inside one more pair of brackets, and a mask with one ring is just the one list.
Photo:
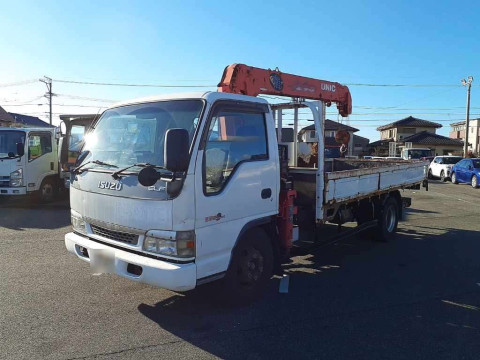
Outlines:
{"label": "white truck cut off by the left edge of the photo", "polygon": [[0,199],[53,199],[59,186],[53,128],[0,128]]}

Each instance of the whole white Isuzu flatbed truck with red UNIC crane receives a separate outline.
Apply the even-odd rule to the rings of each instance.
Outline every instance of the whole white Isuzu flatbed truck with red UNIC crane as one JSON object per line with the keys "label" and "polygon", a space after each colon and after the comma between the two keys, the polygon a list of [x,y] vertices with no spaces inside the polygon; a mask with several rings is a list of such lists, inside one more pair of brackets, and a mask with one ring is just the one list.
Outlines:
{"label": "whole white Isuzu flatbed truck with red UNIC crane", "polygon": [[[258,93],[295,99],[269,105]],[[217,92],[112,106],[71,174],[66,248],[95,272],[174,291],[223,278],[228,294],[249,300],[281,272],[297,219],[356,221],[391,238],[410,204],[400,191],[425,183],[426,163],[338,159],[325,168],[325,106],[345,116],[350,101],[338,83],[235,64]],[[311,111],[318,168],[289,165],[297,137],[282,142],[287,109],[295,134],[298,109]]]}

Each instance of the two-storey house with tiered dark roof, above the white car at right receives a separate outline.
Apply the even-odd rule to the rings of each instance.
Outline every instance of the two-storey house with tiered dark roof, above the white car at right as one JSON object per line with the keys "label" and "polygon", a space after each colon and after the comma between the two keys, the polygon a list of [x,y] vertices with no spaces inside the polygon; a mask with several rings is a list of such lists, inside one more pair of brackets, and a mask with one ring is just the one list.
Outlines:
{"label": "two-storey house with tiered dark roof, above the white car at right", "polygon": [[380,140],[370,143],[370,152],[376,156],[398,155],[404,147],[429,148],[435,155],[460,154],[463,143],[457,139],[438,135],[442,125],[409,116],[380,126]]}

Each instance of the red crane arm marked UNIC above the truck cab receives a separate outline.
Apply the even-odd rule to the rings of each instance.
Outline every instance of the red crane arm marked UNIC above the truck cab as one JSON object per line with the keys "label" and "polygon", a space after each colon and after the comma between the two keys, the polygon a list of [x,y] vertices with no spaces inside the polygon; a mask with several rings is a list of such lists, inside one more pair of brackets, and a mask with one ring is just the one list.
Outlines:
{"label": "red crane arm marked UNIC above the truck cab", "polygon": [[280,95],[336,103],[342,116],[352,113],[352,97],[347,86],[337,82],[260,69],[244,64],[227,66],[218,91],[250,96]]}

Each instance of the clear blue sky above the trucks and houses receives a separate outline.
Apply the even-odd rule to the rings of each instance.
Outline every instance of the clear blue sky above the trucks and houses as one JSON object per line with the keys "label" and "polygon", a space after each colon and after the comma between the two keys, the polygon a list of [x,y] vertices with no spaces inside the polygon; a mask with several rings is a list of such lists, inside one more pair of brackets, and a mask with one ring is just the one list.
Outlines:
{"label": "clear blue sky above the trucks and houses", "polygon": [[[38,81],[48,76],[55,125],[59,114],[97,113],[119,100],[215,90],[232,63],[348,85],[353,113],[342,121],[372,141],[378,126],[410,115],[441,123],[437,132],[448,136],[449,124],[465,119],[460,81],[469,75],[470,116],[480,117],[473,1],[0,0],[0,7],[0,106],[48,121]],[[327,117],[340,119],[334,110]],[[308,119],[302,114],[300,126]]]}

